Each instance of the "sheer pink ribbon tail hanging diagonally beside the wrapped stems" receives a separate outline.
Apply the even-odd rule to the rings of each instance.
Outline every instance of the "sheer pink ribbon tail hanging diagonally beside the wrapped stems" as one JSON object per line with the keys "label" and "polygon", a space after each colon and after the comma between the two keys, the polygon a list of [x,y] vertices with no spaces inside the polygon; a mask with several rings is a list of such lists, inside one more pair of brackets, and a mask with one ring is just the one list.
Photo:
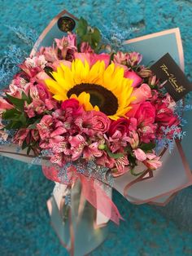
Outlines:
{"label": "sheer pink ribbon tail hanging diagonally beside the wrapped stems", "polygon": [[[121,217],[119,210],[111,201],[111,198],[107,196],[107,192],[101,188],[99,183],[95,183],[94,179],[86,178],[82,174],[80,174],[80,179],[82,193],[85,196],[85,199],[107,218],[119,225],[120,219],[124,220],[124,218]],[[97,196],[99,201],[97,201]]]}

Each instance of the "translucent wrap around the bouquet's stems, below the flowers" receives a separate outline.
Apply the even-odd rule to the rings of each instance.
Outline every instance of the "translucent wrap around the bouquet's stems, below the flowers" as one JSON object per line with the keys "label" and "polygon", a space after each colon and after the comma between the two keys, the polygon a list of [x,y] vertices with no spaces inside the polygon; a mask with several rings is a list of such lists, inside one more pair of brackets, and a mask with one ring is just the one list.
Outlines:
{"label": "translucent wrap around the bouquet's stems, below the flowers", "polygon": [[56,183],[47,206],[51,224],[62,245],[70,254],[81,256],[88,254],[107,238],[107,223],[97,223],[97,210],[85,200],[80,182],[76,182],[70,191],[68,205],[65,202],[68,187]]}

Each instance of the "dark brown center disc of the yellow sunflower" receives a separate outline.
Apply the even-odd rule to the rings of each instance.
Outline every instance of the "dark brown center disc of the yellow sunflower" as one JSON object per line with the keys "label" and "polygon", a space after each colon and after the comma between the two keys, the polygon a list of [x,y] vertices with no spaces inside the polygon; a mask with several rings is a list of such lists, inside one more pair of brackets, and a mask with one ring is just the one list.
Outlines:
{"label": "dark brown center disc of the yellow sunflower", "polygon": [[107,90],[103,86],[91,83],[81,83],[68,90],[68,98],[70,98],[72,94],[79,96],[83,91],[89,93],[90,103],[93,106],[97,105],[99,110],[107,116],[116,114],[118,109],[118,100],[110,90]]}

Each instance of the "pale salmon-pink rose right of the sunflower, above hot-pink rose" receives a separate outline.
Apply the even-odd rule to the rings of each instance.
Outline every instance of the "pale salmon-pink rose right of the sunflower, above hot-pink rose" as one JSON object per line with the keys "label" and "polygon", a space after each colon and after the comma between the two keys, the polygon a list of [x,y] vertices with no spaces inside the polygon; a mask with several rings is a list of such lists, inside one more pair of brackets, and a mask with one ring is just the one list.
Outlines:
{"label": "pale salmon-pink rose right of the sunflower, above hot-pink rose", "polygon": [[143,83],[142,86],[133,90],[132,96],[136,97],[136,99],[132,102],[133,104],[142,103],[146,101],[146,99],[150,99],[152,97],[151,88],[146,83]]}

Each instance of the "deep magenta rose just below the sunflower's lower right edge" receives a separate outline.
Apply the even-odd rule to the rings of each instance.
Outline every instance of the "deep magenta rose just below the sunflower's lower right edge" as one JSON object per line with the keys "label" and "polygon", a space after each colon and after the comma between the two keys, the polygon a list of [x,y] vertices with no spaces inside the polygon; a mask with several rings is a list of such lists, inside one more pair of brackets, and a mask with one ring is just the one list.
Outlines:
{"label": "deep magenta rose just below the sunflower's lower right edge", "polygon": [[112,121],[108,131],[109,135],[110,136],[114,135],[116,130],[119,130],[121,135],[128,134],[129,123],[130,121],[124,117],[120,117],[118,120]]}

